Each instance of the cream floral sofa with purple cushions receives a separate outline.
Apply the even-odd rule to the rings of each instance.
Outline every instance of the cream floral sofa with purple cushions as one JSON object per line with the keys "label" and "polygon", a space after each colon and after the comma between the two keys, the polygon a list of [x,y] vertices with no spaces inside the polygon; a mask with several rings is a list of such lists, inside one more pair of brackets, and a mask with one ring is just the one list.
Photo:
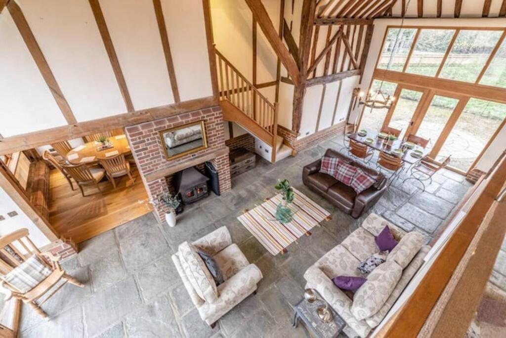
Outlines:
{"label": "cream floral sofa with purple cushions", "polygon": [[[342,291],[331,278],[363,275],[357,270],[360,262],[379,249],[374,242],[385,226],[389,226],[399,242],[387,260],[375,268],[367,281],[355,291]],[[315,262],[304,274],[306,288],[313,288],[346,321],[350,329],[365,337],[387,315],[390,308],[423,264],[430,247],[423,245],[419,232],[406,233],[384,218],[370,214],[362,226]]]}

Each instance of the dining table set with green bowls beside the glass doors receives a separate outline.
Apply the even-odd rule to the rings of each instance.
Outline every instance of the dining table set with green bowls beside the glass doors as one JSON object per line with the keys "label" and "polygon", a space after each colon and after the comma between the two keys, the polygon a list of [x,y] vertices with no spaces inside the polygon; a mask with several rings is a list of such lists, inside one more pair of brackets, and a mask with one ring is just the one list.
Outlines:
{"label": "dining table set with green bowls beside the glass doors", "polygon": [[[361,136],[361,135],[359,135],[359,132],[357,131],[357,132],[350,134],[348,137],[354,141],[365,144],[377,151],[385,152],[385,153],[392,155],[392,156],[398,156],[393,152],[395,149],[402,149],[404,152],[402,154],[402,160],[405,163],[408,163],[410,165],[417,163],[420,159],[423,159],[424,157],[426,157],[430,153],[430,149],[421,147],[418,144],[415,144],[415,146],[412,149],[409,149],[409,148],[403,146],[405,141],[402,139],[396,139],[392,142],[391,145],[389,145],[389,144],[385,143],[385,139],[378,137],[379,131],[371,130],[368,128],[360,129],[360,131],[362,131],[362,130],[365,130],[365,132],[366,132],[365,135]],[[366,142],[365,140],[367,138],[371,138],[372,142]],[[422,152],[421,157],[412,156],[413,151],[415,151],[415,150]]]}

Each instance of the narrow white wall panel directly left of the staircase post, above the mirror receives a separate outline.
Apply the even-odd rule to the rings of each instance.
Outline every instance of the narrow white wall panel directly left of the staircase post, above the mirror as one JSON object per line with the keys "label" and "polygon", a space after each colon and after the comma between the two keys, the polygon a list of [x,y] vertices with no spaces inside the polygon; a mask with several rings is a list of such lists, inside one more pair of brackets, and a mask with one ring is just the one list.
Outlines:
{"label": "narrow white wall panel directly left of the staircase post, above the mirror", "polygon": [[201,1],[162,0],[181,101],[213,95]]}

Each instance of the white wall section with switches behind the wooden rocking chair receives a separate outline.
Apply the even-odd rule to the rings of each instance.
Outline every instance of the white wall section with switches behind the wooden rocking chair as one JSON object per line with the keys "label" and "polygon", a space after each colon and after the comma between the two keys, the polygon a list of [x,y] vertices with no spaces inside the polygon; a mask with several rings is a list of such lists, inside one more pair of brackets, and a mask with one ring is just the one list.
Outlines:
{"label": "white wall section with switches behind the wooden rocking chair", "polygon": [[[8,212],[16,211],[15,217],[7,215]],[[7,235],[13,231],[26,228],[30,233],[30,239],[38,247],[43,247],[51,241],[35,226],[9,195],[0,187],[0,215],[5,219],[0,221],[0,236]],[[20,248],[22,249],[22,248]],[[23,251],[24,252],[24,251]]]}

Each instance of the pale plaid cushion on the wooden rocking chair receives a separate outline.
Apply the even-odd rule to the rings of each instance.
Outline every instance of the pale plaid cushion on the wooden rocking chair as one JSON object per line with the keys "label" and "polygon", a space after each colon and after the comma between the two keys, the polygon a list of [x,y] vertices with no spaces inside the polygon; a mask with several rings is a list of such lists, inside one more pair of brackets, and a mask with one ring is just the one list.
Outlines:
{"label": "pale plaid cushion on the wooden rocking chair", "polygon": [[51,269],[46,267],[37,256],[33,255],[3,278],[20,292],[25,293],[37,286],[50,274]]}

